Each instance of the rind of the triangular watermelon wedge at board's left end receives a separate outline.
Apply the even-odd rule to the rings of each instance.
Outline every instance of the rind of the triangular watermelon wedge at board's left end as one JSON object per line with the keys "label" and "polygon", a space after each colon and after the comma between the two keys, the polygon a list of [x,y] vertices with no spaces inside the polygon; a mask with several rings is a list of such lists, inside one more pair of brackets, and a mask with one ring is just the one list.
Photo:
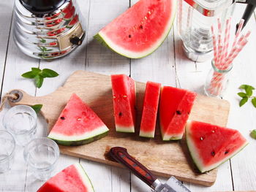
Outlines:
{"label": "rind of the triangular watermelon wedge at board's left end", "polygon": [[48,135],[49,139],[53,139],[55,142],[57,142],[59,145],[66,145],[66,146],[78,146],[78,145],[84,145],[88,144],[90,142],[94,142],[98,139],[101,139],[102,137],[105,137],[108,135],[109,129],[107,126],[101,126],[97,128],[97,131],[94,130],[94,134],[88,135],[85,134],[85,137],[81,136],[64,136],[63,134],[57,134],[50,132]]}

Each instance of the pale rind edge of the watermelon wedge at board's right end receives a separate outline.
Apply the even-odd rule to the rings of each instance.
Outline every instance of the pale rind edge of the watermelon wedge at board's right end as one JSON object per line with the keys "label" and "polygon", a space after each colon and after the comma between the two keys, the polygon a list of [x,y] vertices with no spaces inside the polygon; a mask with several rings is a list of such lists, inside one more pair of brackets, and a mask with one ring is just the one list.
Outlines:
{"label": "pale rind edge of the watermelon wedge at board's right end", "polygon": [[[194,164],[197,166],[197,169],[201,172],[201,173],[205,173],[205,172],[210,172],[211,170],[217,168],[218,166],[220,166],[221,164],[224,164],[226,161],[230,160],[230,158],[233,158],[234,155],[236,155],[237,153],[239,153],[241,150],[244,149],[244,147],[246,147],[246,145],[249,144],[249,142],[245,142],[244,145],[242,145],[235,153],[233,153],[232,155],[227,156],[227,158],[225,158],[225,160],[223,160],[222,162],[220,162],[219,164],[214,164],[213,166],[211,166],[211,168],[204,168],[203,164],[200,162],[200,158],[198,156],[197,153],[195,153],[195,147],[193,146],[191,140],[189,139],[189,127],[190,127],[190,123],[191,121],[189,120],[187,122],[186,125],[186,141],[187,141],[187,147],[189,148],[189,153],[192,157],[192,160],[194,162]],[[195,157],[195,155],[197,155],[197,157]]]}

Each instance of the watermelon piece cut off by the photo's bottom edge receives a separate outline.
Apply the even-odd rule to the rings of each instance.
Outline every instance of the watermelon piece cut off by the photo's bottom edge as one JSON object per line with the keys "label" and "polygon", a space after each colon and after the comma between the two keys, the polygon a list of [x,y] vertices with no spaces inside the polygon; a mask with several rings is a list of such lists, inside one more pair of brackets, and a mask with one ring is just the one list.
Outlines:
{"label": "watermelon piece cut off by the photo's bottom edge", "polygon": [[91,180],[80,164],[73,164],[51,177],[37,192],[94,192]]}

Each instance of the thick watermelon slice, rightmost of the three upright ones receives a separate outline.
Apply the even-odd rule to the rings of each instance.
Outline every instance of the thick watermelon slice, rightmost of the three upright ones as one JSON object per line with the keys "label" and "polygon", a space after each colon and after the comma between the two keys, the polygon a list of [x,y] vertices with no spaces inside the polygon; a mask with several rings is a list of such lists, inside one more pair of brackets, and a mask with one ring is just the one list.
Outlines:
{"label": "thick watermelon slice, rightmost of the three upright ones", "polygon": [[159,102],[159,120],[164,141],[181,139],[196,93],[165,86]]}

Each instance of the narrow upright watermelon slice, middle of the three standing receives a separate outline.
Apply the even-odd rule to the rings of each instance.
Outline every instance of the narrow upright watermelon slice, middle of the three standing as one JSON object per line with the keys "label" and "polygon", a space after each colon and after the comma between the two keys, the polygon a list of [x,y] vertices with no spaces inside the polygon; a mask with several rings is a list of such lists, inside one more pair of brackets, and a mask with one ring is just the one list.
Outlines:
{"label": "narrow upright watermelon slice, middle of the three standing", "polygon": [[140,123],[140,137],[154,138],[160,91],[160,83],[150,81],[147,82]]}

